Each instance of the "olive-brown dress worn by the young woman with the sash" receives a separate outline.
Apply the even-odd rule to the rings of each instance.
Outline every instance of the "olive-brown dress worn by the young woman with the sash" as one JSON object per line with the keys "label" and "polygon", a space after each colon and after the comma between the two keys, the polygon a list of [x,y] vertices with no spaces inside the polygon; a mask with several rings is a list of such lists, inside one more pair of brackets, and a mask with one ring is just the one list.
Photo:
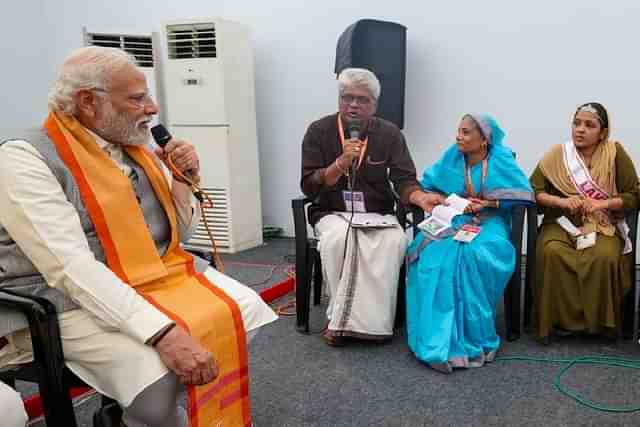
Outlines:
{"label": "olive-brown dress worn by the young woman with the sash", "polygon": [[[638,176],[633,162],[616,143],[615,179],[624,208],[638,206]],[[538,166],[531,176],[536,194],[564,197]],[[631,287],[630,256],[623,256],[618,235],[597,235],[596,245],[578,251],[575,242],[557,223],[566,216],[577,226],[580,218],[557,208],[540,208],[544,219],[536,248],[536,284],[533,323],[538,338],[549,336],[554,326],[570,331],[619,333],[622,298]]]}

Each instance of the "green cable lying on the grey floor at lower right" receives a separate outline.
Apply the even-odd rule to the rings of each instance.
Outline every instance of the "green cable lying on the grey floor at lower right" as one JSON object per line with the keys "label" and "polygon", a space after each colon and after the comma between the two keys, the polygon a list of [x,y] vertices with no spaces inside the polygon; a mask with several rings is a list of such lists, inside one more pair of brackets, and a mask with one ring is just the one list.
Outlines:
{"label": "green cable lying on the grey floor at lower right", "polygon": [[572,398],[573,400],[580,403],[581,405],[587,406],[591,409],[595,409],[601,412],[626,413],[626,412],[640,411],[640,406],[614,407],[614,406],[607,406],[607,405],[602,405],[602,404],[593,402],[581,396],[577,392],[567,387],[564,387],[561,383],[562,376],[575,365],[600,365],[600,366],[616,366],[616,367],[629,368],[629,369],[640,369],[640,360],[620,359],[617,357],[607,357],[607,356],[583,356],[583,357],[577,357],[575,359],[545,359],[542,357],[530,357],[530,356],[498,356],[496,357],[496,361],[565,363],[566,366],[560,370],[558,375],[556,375],[555,380],[553,381],[554,385],[556,386],[556,389],[558,389],[560,393]]}

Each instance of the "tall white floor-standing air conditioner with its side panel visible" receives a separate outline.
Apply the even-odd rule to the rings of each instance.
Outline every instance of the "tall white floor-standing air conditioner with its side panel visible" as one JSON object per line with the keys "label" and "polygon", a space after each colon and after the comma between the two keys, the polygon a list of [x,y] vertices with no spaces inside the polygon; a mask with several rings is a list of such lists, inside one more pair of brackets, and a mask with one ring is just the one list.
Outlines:
{"label": "tall white floor-standing air conditioner with its side panel visible", "polygon": [[[218,248],[262,244],[253,51],[242,25],[222,19],[162,24],[162,81],[171,133],[200,156],[205,214]],[[201,221],[187,247],[210,248]]]}

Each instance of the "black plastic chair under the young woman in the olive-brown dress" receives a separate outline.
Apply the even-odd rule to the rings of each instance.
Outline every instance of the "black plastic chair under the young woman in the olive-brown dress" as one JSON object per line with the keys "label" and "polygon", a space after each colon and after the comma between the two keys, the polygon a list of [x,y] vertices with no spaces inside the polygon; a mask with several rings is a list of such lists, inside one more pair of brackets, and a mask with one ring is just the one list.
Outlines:
{"label": "black plastic chair under the young woman in the olive-brown dress", "polygon": [[[638,209],[625,210],[625,219],[629,226],[629,238],[631,239],[631,283],[629,294],[624,299],[623,307],[623,336],[632,337],[634,342],[638,340],[638,303],[640,289],[636,274],[636,249],[638,236]],[[542,215],[537,206],[527,208],[527,261],[525,278],[524,321],[525,325],[531,324],[531,310],[533,306],[533,288],[536,285],[536,245],[538,241],[539,216]]]}

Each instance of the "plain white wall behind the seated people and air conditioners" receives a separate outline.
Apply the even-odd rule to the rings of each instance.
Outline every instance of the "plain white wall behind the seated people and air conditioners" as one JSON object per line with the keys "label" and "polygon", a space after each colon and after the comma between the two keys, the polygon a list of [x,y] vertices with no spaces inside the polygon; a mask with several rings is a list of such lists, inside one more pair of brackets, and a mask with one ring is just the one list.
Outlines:
{"label": "plain white wall behind the seated people and air conditioners", "polygon": [[[27,2],[29,3],[29,2]],[[290,199],[299,194],[300,142],[306,126],[336,109],[335,44],[361,18],[408,27],[405,134],[421,173],[453,142],[459,118],[489,111],[507,132],[527,172],[569,132],[575,107],[600,101],[614,137],[636,160],[640,4],[611,0],[413,2],[368,0],[34,1],[14,4],[3,37],[0,114],[8,123],[39,123],[46,88],[64,55],[91,31],[158,30],[165,19],[221,16],[247,25],[256,56],[256,97],[265,224],[290,233]],[[75,7],[73,7],[75,5]],[[22,23],[28,23],[28,28]],[[42,24],[39,27],[39,24]],[[53,40],[45,44],[45,40]],[[24,43],[34,54],[16,49]],[[36,53],[40,52],[38,56]],[[23,78],[23,76],[27,76]],[[21,84],[16,84],[16,79]],[[384,88],[383,88],[384,90]],[[206,160],[206,159],[205,159]]]}

